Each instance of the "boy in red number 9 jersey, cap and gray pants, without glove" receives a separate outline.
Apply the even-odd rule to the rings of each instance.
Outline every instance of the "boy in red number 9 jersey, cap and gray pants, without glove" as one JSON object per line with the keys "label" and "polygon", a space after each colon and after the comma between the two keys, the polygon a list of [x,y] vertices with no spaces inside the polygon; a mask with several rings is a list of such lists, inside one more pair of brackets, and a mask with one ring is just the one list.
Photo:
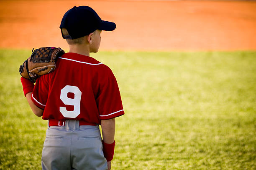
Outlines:
{"label": "boy in red number 9 jersey, cap and gray pants, without glove", "polygon": [[123,105],[113,72],[89,56],[99,49],[101,31],[115,27],[91,7],[73,7],[60,25],[69,52],[56,60],[53,72],[38,77],[35,85],[21,77],[33,113],[48,120],[43,170],[110,170],[115,117],[124,114]]}

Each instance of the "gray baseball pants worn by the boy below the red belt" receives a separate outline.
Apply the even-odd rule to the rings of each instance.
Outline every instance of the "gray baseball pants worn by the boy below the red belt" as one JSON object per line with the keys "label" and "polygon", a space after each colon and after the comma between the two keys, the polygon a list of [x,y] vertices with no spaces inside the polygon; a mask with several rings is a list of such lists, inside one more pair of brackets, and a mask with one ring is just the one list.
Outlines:
{"label": "gray baseball pants worn by the boy below the red belt", "polygon": [[63,127],[48,126],[41,162],[42,170],[107,170],[99,125],[66,120]]}

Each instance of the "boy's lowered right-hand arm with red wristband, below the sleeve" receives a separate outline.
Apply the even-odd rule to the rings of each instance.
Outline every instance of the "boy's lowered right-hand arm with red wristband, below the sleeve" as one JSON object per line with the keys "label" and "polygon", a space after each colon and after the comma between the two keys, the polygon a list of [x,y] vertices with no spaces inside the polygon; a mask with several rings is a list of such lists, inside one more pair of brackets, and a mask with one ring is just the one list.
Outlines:
{"label": "boy's lowered right-hand arm with red wristband, below the sleeve", "polygon": [[115,149],[115,118],[101,120],[102,145],[104,157],[108,161],[108,170],[111,169],[111,160],[113,159]]}

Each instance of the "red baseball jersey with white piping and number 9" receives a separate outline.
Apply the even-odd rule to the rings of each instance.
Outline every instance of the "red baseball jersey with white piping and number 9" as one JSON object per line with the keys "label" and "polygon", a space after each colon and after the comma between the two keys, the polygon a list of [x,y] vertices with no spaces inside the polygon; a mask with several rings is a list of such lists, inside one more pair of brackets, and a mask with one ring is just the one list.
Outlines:
{"label": "red baseball jersey with white piping and number 9", "polygon": [[68,52],[54,72],[36,80],[31,99],[44,109],[43,119],[84,120],[100,124],[124,114],[117,81],[110,68],[92,57]]}

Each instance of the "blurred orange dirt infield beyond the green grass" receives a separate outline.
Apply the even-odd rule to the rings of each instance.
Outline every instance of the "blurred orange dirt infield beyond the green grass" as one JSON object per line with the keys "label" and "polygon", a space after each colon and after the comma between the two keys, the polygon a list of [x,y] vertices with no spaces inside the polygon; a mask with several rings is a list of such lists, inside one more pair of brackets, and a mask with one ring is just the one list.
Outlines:
{"label": "blurred orange dirt infield beyond the green grass", "polygon": [[67,49],[59,24],[88,5],[116,23],[103,50],[256,50],[254,1],[1,0],[0,47]]}

